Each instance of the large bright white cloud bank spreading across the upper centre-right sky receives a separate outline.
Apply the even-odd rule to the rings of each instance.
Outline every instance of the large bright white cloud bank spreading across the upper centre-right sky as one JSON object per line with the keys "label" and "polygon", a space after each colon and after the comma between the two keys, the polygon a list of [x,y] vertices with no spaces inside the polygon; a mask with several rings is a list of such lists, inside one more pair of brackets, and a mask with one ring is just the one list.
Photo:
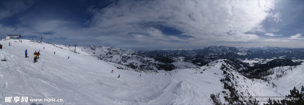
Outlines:
{"label": "large bright white cloud bank spreading across the upper centre-right sky", "polygon": [[107,8],[87,9],[90,28],[103,34],[141,33],[172,28],[200,40],[249,41],[264,29],[271,3],[265,1],[118,1]]}

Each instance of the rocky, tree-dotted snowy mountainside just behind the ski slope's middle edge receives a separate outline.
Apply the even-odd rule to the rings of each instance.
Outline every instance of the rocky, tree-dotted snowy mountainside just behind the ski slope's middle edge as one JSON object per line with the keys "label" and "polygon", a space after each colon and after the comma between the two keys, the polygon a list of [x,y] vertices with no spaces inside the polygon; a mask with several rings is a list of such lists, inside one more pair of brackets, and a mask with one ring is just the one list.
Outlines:
{"label": "rocky, tree-dotted snowy mountainside just behind the ski slope's middle edge", "polygon": [[98,59],[126,65],[136,70],[157,71],[185,69],[198,67],[195,64],[184,62],[184,58],[170,56],[164,52],[122,50],[120,48],[89,46],[79,47],[81,51],[88,52]]}

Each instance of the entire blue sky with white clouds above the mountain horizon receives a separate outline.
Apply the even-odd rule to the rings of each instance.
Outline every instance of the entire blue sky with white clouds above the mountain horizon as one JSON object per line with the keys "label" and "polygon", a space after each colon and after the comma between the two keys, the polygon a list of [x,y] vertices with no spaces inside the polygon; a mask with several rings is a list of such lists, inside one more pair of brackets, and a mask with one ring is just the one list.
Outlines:
{"label": "entire blue sky with white clouds above the mountain horizon", "polygon": [[304,46],[304,1],[7,1],[0,38],[131,50]]}

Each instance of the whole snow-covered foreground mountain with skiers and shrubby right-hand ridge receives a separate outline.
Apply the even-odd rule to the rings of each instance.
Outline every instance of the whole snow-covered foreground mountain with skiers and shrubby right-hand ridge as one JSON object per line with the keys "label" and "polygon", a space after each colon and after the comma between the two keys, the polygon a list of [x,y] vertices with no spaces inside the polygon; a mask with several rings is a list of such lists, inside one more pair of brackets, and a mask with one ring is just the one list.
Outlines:
{"label": "whole snow-covered foreground mountain with skiers and shrubby right-hand ridge", "polygon": [[[141,56],[130,50],[119,48],[80,46],[76,47],[77,53],[74,53],[74,47],[68,48],[64,45],[44,42],[40,44],[29,40],[23,40],[22,43],[14,41],[16,40],[0,41],[4,45],[3,49],[0,49],[1,105],[210,105],[216,101],[226,104],[246,104],[234,99],[245,96],[285,96],[293,87],[299,90],[304,80],[303,64],[274,68],[271,72],[277,75],[268,75],[267,78],[272,78],[269,79],[271,82],[268,82],[268,80],[244,77],[233,66],[233,61],[227,59],[212,61],[208,63],[208,66],[190,67],[189,65],[192,64],[190,62],[160,56]],[[9,42],[12,42],[11,46],[8,46]],[[24,57],[25,49],[28,51],[27,58]],[[33,63],[31,54],[39,50],[41,51],[40,59]],[[173,65],[185,69],[158,70],[152,74],[149,71],[137,69],[138,67],[133,69],[128,65],[131,62],[132,65],[138,67],[140,65],[171,67]],[[146,62],[150,63],[146,64]],[[186,66],[189,67],[186,68]],[[9,103],[4,100],[5,97],[16,96],[28,97],[29,102]],[[44,99],[63,100],[45,102]],[[250,102],[247,101],[247,103]],[[262,103],[267,102],[260,102]]]}

